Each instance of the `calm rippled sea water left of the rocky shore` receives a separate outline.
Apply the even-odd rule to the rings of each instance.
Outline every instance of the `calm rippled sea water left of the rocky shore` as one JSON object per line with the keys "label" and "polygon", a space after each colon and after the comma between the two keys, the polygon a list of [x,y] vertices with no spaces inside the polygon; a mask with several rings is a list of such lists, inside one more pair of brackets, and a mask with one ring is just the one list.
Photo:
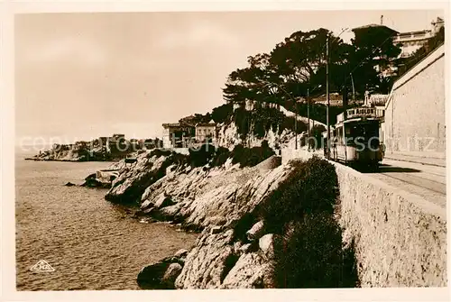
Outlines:
{"label": "calm rippled sea water left of the rocky shore", "polygon": [[[15,161],[18,290],[139,289],[143,266],[181,248],[195,234],[168,224],[141,224],[104,199],[106,190],[81,184],[106,162]],[[47,261],[55,271],[30,268]]]}

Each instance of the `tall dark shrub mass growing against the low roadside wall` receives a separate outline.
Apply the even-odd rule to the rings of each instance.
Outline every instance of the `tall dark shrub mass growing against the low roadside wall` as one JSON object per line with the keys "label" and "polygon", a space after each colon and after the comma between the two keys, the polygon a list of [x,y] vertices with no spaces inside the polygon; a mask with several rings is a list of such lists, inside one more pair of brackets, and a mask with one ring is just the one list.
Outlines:
{"label": "tall dark shrub mass growing against the low roadside wall", "polygon": [[267,234],[259,241],[262,251],[270,252],[273,245],[274,286],[357,286],[354,250],[343,247],[342,230],[334,218],[335,167],[318,157],[291,165],[293,172],[259,209],[265,233],[275,234],[273,240]]}

